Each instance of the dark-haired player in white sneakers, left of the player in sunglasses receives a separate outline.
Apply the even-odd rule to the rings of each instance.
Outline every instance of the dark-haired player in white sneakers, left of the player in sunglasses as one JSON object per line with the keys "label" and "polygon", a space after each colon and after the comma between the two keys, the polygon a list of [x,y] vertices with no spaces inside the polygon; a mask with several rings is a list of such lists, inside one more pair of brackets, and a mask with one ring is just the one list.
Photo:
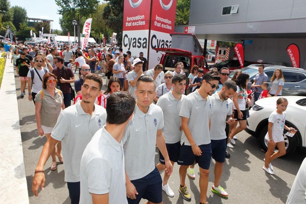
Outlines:
{"label": "dark-haired player in white sneakers, left of the player in sunglasses", "polygon": [[[157,101],[156,105],[162,108],[164,113],[164,127],[162,133],[165,137],[166,147],[169,154],[171,164],[177,162],[181,148],[181,117],[179,116],[182,101],[186,97],[186,76],[184,74],[177,74],[172,78],[173,90],[162,95]],[[159,152],[159,164],[156,165],[159,171],[165,169],[165,159]],[[166,173],[162,182],[162,190],[170,197],[174,196],[174,192],[168,185],[169,177]]]}

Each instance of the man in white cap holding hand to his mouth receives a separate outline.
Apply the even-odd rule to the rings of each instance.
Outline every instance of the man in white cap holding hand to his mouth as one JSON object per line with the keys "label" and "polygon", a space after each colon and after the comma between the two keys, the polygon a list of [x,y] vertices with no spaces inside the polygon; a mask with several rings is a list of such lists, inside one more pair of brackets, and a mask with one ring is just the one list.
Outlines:
{"label": "man in white cap holding hand to his mouth", "polygon": [[128,91],[134,96],[135,99],[137,97],[135,96],[135,90],[136,90],[136,83],[140,76],[143,76],[142,73],[142,66],[144,64],[144,61],[141,61],[139,58],[136,58],[133,61],[132,66],[134,67],[134,70],[132,72],[128,73],[128,82],[129,82],[129,89]]}

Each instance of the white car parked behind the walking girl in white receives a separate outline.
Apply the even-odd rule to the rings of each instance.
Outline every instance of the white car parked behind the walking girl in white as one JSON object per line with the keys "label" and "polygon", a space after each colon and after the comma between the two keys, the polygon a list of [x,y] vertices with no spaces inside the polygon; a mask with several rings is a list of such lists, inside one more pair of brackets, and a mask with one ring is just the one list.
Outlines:
{"label": "white car parked behind the walking girl in white", "polygon": [[[268,119],[275,110],[276,101],[281,96],[263,98],[255,102],[250,109],[250,117],[247,119],[247,128],[245,131],[258,138],[263,150],[267,151],[267,141],[264,137],[268,131]],[[297,133],[293,137],[285,135],[288,130],[284,130],[286,155],[292,154],[297,148],[306,151],[306,97],[287,96],[288,107],[286,112],[285,124],[293,127]],[[277,148],[275,151],[278,151]]]}

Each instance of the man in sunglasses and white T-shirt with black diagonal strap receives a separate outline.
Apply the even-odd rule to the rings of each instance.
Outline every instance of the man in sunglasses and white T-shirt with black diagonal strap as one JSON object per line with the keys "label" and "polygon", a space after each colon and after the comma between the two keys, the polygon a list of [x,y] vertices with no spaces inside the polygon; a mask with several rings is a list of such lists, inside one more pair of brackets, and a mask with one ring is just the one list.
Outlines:
{"label": "man in sunglasses and white T-shirt with black diagonal strap", "polygon": [[44,60],[45,58],[42,55],[37,55],[35,57],[36,66],[28,72],[28,99],[29,101],[33,101],[34,105],[34,98],[36,94],[43,89],[43,75],[45,73],[49,73],[48,69],[42,67]]}

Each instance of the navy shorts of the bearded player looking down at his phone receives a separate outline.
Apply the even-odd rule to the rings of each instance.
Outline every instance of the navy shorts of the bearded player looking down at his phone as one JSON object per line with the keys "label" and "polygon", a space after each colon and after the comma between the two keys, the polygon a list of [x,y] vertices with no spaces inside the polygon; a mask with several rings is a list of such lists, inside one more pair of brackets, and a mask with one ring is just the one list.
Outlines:
{"label": "navy shorts of the bearded player looking down at his phone", "polygon": [[215,159],[215,161],[220,163],[225,162],[226,141],[226,138],[218,140],[211,139],[212,158]]}

